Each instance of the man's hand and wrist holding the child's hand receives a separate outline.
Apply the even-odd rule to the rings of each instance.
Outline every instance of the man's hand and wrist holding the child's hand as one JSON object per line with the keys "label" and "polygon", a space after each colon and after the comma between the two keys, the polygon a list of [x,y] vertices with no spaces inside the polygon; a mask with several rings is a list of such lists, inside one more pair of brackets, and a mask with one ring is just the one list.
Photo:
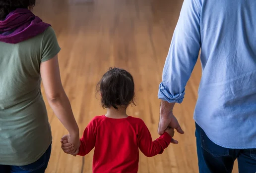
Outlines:
{"label": "man's hand and wrist holding the child's hand", "polygon": [[[178,120],[173,115],[173,107],[174,103],[161,101],[158,134],[162,135],[168,127],[176,129],[181,134],[184,133]],[[178,141],[175,139],[172,139],[171,142],[174,144],[178,144]]]}

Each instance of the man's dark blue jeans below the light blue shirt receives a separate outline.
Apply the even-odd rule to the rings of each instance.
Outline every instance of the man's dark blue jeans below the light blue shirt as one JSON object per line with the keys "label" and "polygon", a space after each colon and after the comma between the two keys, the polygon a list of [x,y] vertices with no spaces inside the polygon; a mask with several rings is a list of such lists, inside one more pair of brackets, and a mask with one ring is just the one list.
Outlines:
{"label": "man's dark blue jeans below the light blue shirt", "polygon": [[223,148],[213,143],[197,124],[195,128],[199,173],[232,173],[236,159],[239,173],[256,173],[255,148]]}

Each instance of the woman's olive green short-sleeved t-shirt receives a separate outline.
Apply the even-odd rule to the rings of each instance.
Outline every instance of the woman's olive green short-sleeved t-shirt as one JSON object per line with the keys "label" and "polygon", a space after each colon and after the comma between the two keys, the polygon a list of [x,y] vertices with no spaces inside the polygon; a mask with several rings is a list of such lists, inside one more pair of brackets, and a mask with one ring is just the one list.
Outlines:
{"label": "woman's olive green short-sleeved t-shirt", "polygon": [[0,42],[0,165],[31,164],[50,146],[40,63],[60,50],[52,27],[21,43]]}

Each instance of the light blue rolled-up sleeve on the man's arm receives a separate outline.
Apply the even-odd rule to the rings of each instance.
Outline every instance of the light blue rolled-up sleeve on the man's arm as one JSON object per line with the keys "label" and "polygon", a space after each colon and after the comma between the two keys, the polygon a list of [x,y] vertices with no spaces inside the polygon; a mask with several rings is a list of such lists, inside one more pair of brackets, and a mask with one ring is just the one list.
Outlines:
{"label": "light blue rolled-up sleeve on the man's arm", "polygon": [[184,0],[165,61],[158,98],[181,103],[200,50],[199,0]]}

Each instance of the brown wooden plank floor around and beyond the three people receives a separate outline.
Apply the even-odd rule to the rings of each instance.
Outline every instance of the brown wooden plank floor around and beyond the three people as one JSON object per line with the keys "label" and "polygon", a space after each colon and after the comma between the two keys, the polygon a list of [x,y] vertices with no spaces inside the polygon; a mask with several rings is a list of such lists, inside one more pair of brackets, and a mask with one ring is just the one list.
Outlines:
{"label": "brown wooden plank floor around and beyond the three people", "polygon": [[[128,114],[144,120],[157,138],[158,85],[182,0],[37,0],[34,12],[51,23],[62,51],[59,54],[64,89],[83,132],[88,122],[106,111],[101,108],[96,84],[109,67],[127,69],[134,78],[135,107]],[[140,155],[139,173],[198,173],[193,109],[201,67],[197,63],[175,115],[185,130],[176,133],[178,145],[162,155]],[[72,157],[61,150],[67,133],[47,103],[53,132],[53,150],[47,173],[92,173],[93,152]],[[237,173],[235,166],[234,173]]]}

